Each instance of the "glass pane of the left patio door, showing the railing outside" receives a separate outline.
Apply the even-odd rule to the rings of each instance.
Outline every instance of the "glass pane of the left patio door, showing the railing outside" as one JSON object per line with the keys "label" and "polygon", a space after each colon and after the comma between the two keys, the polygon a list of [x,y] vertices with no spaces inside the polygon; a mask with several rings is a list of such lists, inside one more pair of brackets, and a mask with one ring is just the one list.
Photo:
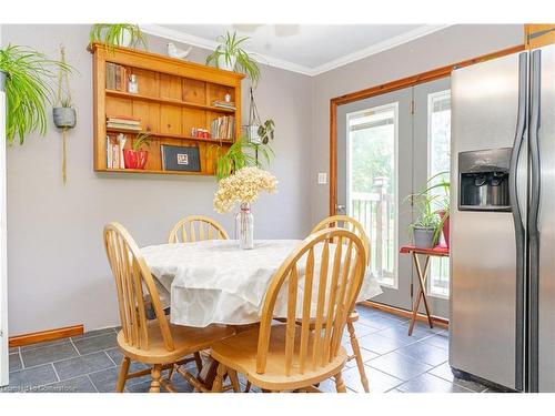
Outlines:
{"label": "glass pane of the left patio door, showing the railing outside", "polygon": [[363,224],[371,272],[397,287],[397,103],[347,114],[347,213]]}

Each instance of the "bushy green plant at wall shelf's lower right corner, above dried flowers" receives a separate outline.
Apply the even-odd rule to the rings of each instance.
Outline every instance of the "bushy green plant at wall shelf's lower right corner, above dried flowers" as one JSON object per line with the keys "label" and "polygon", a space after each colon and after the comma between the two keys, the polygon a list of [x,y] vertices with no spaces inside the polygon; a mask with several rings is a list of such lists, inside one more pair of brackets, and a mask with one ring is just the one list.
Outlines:
{"label": "bushy green plant at wall shelf's lower right corner, above dried flowers", "polygon": [[219,145],[212,145],[215,149],[215,177],[218,181],[228,177],[235,171],[244,166],[261,166],[256,154],[262,155],[262,159],[266,163],[270,163],[271,156],[274,154],[269,145],[256,145],[249,143],[244,138],[240,138],[235,143],[233,143],[225,153],[222,153],[222,149]]}

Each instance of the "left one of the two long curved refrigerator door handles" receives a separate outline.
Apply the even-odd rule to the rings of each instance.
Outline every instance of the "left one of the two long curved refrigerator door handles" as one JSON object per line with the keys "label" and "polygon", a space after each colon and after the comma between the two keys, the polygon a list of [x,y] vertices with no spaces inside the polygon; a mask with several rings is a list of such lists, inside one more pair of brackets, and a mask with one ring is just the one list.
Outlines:
{"label": "left one of the two long curved refrigerator door handles", "polygon": [[511,210],[513,212],[513,221],[515,225],[515,243],[516,243],[516,361],[515,361],[515,387],[517,390],[524,389],[524,264],[525,264],[525,230],[521,204],[518,201],[518,160],[524,142],[524,133],[526,131],[527,116],[527,98],[528,98],[528,53],[523,52],[518,55],[518,112],[516,119],[515,140],[511,154],[511,164],[508,172],[508,196]]}

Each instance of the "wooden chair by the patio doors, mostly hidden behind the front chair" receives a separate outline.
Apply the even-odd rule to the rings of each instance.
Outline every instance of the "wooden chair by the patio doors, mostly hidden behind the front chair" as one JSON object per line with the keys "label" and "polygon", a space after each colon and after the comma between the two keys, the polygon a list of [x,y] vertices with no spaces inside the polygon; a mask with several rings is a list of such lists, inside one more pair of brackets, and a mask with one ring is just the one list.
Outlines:
{"label": "wooden chair by the patio doors, mostly hidden behind the front chair", "polygon": [[[319,232],[321,230],[325,230],[327,227],[342,227],[345,230],[350,230],[355,233],[364,245],[364,252],[366,256],[366,266],[370,265],[370,241],[366,236],[366,232],[362,224],[355,219],[347,215],[333,215],[329,216],[325,220],[322,220],[312,230],[312,233]],[[356,366],[359,367],[359,374],[361,376],[361,384],[364,388],[364,392],[370,393],[369,388],[369,379],[366,377],[366,371],[364,369],[364,363],[362,361],[361,348],[359,346],[359,339],[356,338],[356,334],[354,331],[354,323],[359,321],[359,313],[353,308],[347,318],[347,331],[349,337],[351,341],[351,347],[353,348],[353,354],[349,356],[349,361],[355,359]]]}

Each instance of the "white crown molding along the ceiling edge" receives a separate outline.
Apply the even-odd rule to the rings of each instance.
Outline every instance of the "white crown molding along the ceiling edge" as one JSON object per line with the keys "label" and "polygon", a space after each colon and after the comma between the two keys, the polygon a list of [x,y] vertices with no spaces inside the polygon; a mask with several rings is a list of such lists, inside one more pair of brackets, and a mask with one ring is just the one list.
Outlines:
{"label": "white crown molding along the ceiling edge", "polygon": [[[340,57],[337,59],[334,59],[332,61],[329,61],[329,62],[323,63],[323,64],[315,67],[315,68],[300,65],[297,63],[293,63],[293,62],[290,62],[290,61],[283,60],[283,59],[265,55],[262,53],[250,52],[250,51],[248,51],[248,52],[259,63],[262,63],[262,64],[265,64],[269,67],[280,68],[280,69],[283,69],[286,71],[302,73],[302,74],[309,75],[309,77],[315,77],[315,75],[319,75],[321,73],[331,71],[333,69],[346,65],[351,62],[359,61],[361,59],[371,57],[373,54],[383,52],[387,49],[392,49],[392,48],[398,47],[400,44],[407,43],[407,42],[411,42],[415,39],[418,39],[418,38],[427,35],[427,34],[437,32],[440,30],[448,28],[450,26],[451,24],[421,26],[421,27],[418,27],[414,30],[411,30],[406,33],[402,33],[400,35],[387,39],[383,42],[375,43],[369,48],[364,48],[360,51]],[[215,41],[200,38],[200,37],[195,37],[193,34],[181,32],[179,30],[164,28],[164,27],[159,26],[159,24],[141,24],[140,27],[144,33],[160,37],[160,38],[164,38],[164,39],[172,40],[172,41],[180,42],[180,43],[186,43],[186,44],[190,44],[190,45],[193,45],[196,48],[214,50],[219,44]]]}

